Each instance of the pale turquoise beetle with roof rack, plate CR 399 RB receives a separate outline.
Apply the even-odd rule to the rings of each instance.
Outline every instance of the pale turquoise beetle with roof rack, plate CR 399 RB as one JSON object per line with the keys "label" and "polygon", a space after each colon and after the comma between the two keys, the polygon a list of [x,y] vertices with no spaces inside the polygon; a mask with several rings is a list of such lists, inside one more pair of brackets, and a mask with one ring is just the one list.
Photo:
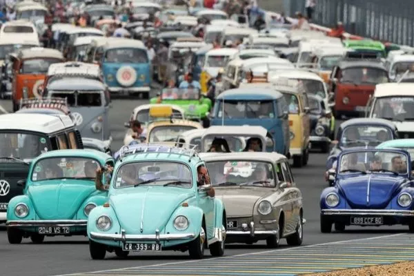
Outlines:
{"label": "pale turquoise beetle with roof rack, plate CR 399 RB", "polygon": [[[204,171],[199,177],[199,173]],[[124,146],[109,185],[108,202],[88,217],[92,259],[106,252],[188,250],[201,259],[204,249],[224,254],[226,211],[195,150],[167,146]],[[210,194],[211,195],[211,194]]]}

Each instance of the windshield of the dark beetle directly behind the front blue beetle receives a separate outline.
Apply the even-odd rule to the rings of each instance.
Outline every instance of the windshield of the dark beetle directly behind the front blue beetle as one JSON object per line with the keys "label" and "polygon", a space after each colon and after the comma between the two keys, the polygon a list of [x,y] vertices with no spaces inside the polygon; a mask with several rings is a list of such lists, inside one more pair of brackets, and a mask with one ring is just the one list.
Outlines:
{"label": "windshield of the dark beetle directly behind the front blue beetle", "polygon": [[392,140],[393,132],[386,126],[347,126],[342,133],[339,144],[344,148],[357,146],[378,146],[384,141]]}

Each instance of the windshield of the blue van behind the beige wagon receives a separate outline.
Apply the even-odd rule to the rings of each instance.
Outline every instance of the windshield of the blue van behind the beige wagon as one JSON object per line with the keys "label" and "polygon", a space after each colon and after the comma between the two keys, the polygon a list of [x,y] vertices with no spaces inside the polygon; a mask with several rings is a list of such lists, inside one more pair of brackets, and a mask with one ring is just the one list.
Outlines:
{"label": "windshield of the blue van behind the beige wagon", "polygon": [[[223,108],[224,104],[224,108]],[[273,101],[219,101],[217,117],[228,119],[273,119],[275,107]]]}

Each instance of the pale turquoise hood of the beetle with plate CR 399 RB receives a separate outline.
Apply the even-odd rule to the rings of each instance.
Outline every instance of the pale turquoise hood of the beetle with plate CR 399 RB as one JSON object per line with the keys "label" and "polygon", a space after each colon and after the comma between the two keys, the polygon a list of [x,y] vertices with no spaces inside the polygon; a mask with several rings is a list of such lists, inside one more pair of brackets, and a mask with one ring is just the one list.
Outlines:
{"label": "pale turquoise hood of the beetle with plate CR 399 RB", "polygon": [[110,195],[110,206],[126,233],[154,234],[156,229],[164,229],[179,204],[193,196],[184,188],[124,188]]}

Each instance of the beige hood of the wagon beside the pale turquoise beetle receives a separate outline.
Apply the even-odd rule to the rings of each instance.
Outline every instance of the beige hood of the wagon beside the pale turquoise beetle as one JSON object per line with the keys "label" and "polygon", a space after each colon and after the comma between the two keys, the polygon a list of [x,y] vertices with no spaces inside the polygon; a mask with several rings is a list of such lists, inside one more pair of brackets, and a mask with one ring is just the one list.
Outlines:
{"label": "beige hood of the wagon beside the pale turquoise beetle", "polygon": [[215,187],[215,195],[224,202],[228,217],[251,217],[257,200],[271,193],[269,188]]}

